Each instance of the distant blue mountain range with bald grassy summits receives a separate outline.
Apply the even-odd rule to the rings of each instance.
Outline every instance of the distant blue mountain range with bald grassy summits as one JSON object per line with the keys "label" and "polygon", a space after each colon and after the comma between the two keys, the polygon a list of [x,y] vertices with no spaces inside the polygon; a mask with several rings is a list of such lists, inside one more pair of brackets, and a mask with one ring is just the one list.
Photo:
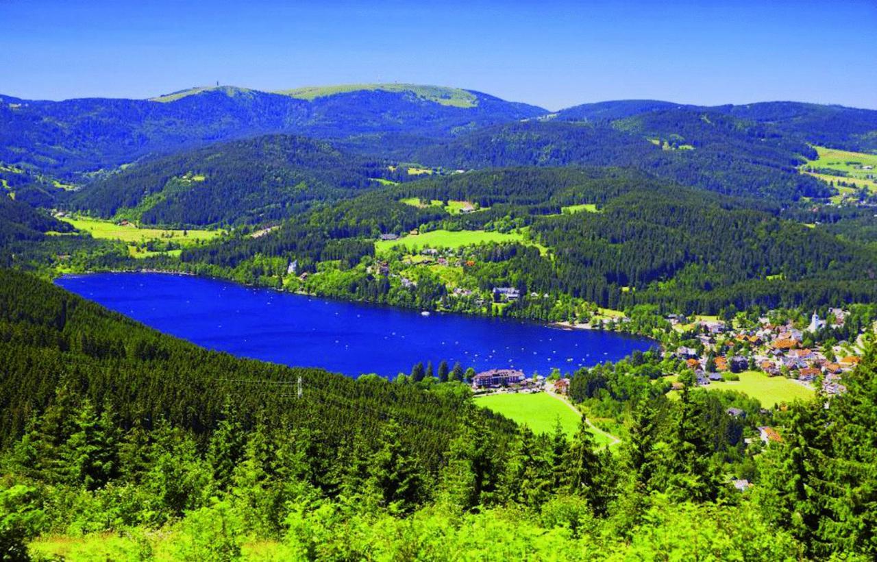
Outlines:
{"label": "distant blue mountain range with bald grassy summits", "polygon": [[545,113],[469,90],[322,90],[310,96],[301,90],[268,93],[219,87],[153,100],[62,102],[0,96],[0,162],[64,174],[117,167],[147,153],[273,132],[338,138],[399,131],[442,136],[460,127]]}

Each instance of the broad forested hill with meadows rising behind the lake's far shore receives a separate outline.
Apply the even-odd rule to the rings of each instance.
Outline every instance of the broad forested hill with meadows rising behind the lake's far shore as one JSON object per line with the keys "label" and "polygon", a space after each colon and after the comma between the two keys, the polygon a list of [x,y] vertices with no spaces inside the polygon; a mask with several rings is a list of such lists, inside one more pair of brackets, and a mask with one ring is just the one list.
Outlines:
{"label": "broad forested hill with meadows rising behind the lake's far shore", "polygon": [[[452,214],[443,202],[478,210]],[[612,309],[656,303],[699,314],[731,305],[877,298],[873,247],[782,220],[780,213],[777,203],[685,188],[633,169],[493,168],[377,189],[296,216],[261,238],[192,248],[182,253],[181,266],[317,294],[463,312],[481,310],[478,301],[488,295],[449,298],[455,289],[516,287],[522,297],[503,313],[542,320],[551,312],[545,294],[554,296],[549,302],[574,297]],[[401,263],[398,271],[391,266],[418,279],[416,288],[396,286],[369,267],[388,255],[405,261],[404,254],[386,248],[377,255],[378,235],[407,234],[417,246],[431,231],[495,231],[517,238],[458,251],[461,263],[472,262],[460,266],[461,277],[428,263]],[[290,260],[310,274],[303,287],[284,278]],[[344,273],[319,265],[328,262],[340,263]]]}

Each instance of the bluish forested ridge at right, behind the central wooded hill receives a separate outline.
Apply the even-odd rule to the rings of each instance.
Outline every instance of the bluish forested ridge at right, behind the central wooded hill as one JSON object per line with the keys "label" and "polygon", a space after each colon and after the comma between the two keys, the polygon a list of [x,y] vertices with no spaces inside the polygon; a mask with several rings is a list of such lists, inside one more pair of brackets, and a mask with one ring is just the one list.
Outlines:
{"label": "bluish forested ridge at right, behind the central wooded hill", "polygon": [[794,201],[832,190],[798,173],[816,153],[764,125],[689,110],[660,110],[610,123],[549,120],[487,127],[403,154],[453,168],[597,165],[638,167],[682,185]]}

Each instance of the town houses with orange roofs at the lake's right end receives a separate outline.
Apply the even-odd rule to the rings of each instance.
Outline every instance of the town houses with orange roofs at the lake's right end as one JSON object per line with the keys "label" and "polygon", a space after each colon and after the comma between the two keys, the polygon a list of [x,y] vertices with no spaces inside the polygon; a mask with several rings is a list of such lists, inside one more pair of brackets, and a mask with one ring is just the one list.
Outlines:
{"label": "town houses with orange roofs at the lake's right end", "polygon": [[[831,309],[831,317],[834,323],[832,325],[843,325],[845,312],[843,309]],[[680,321],[678,317],[668,319],[671,323]],[[771,376],[784,375],[809,384],[821,376],[824,392],[834,395],[845,390],[840,383],[843,373],[852,370],[859,363],[859,357],[845,353],[839,346],[835,350],[837,357],[831,359],[824,352],[804,347],[804,331],[796,329],[792,324],[774,325],[767,318],[761,318],[759,328],[752,330],[734,330],[718,320],[699,324],[704,332],[698,336],[703,351],[680,347],[674,354],[686,361],[701,385],[708,385],[710,381],[723,381],[723,373],[757,369]],[[807,331],[816,332],[826,325],[827,321],[814,313]],[[717,354],[722,349],[719,344],[729,342],[744,344],[742,348],[737,348],[745,351],[731,356]]]}

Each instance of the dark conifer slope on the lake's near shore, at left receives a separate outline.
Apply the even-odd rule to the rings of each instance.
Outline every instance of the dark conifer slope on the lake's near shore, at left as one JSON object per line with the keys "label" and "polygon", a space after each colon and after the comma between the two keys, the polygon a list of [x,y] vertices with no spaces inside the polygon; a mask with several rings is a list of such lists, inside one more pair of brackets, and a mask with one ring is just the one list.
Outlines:
{"label": "dark conifer slope on the lake's near shore, at left", "polygon": [[[466,411],[453,393],[442,397],[378,378],[353,381],[209,352],[4,268],[0,365],[0,446],[20,438],[28,419],[50,405],[64,414],[59,431],[73,423],[76,405],[88,400],[97,409],[112,409],[124,429],[167,422],[206,438],[231,402],[246,427],[258,417],[310,430],[330,451],[354,435],[374,445],[375,433],[393,418],[406,427],[403,443],[437,470]],[[509,427],[502,420],[480,423],[488,431]],[[497,439],[502,442],[499,433]],[[51,462],[39,459],[41,466]]]}

